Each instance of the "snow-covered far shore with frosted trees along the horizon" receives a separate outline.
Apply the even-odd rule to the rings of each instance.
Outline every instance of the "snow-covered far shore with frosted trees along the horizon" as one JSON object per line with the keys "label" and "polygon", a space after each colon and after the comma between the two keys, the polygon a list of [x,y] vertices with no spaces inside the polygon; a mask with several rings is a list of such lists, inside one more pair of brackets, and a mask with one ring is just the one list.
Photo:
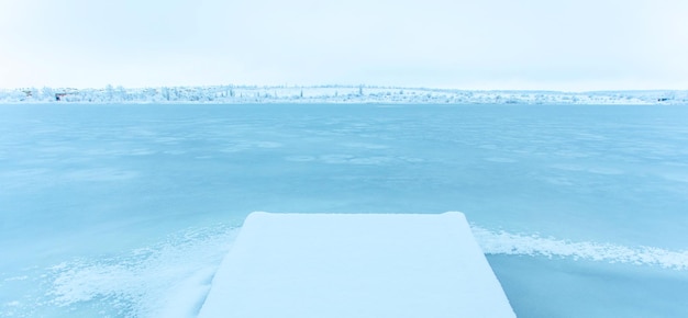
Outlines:
{"label": "snow-covered far shore with frosted trees along the horizon", "polygon": [[688,91],[467,91],[368,86],[162,87],[0,90],[0,103],[413,103],[655,104],[688,103]]}

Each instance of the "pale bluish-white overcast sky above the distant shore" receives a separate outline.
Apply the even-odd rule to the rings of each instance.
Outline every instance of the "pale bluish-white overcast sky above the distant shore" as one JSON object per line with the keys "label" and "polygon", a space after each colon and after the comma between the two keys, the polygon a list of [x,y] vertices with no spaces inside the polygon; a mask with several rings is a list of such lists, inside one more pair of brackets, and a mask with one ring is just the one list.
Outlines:
{"label": "pale bluish-white overcast sky above the distant shore", "polygon": [[685,0],[0,0],[0,87],[688,89]]}

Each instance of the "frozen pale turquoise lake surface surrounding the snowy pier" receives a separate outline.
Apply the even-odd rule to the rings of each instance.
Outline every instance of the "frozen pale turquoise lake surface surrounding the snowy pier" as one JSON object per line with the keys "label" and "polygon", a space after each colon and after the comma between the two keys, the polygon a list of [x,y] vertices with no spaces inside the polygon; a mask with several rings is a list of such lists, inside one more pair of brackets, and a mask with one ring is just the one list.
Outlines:
{"label": "frozen pale turquoise lake surface surrounding the snowy pier", "polygon": [[0,317],[193,317],[253,211],[460,211],[520,317],[688,316],[684,105],[5,104]]}

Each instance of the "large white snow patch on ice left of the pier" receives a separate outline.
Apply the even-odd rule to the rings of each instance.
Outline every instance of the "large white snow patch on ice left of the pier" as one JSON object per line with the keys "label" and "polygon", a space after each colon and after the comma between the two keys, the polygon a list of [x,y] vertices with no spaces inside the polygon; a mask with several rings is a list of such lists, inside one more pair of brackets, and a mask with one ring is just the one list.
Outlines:
{"label": "large white snow patch on ice left of the pier", "polygon": [[90,303],[120,317],[193,317],[236,231],[187,230],[118,258],[62,263],[52,268],[49,304],[69,309]]}

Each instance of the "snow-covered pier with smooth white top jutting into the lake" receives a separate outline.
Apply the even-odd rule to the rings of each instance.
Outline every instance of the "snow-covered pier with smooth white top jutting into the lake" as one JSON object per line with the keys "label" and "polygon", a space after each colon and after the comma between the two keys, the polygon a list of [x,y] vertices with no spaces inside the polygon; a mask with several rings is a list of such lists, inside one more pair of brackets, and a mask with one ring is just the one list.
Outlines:
{"label": "snow-covered pier with smooth white top jutting into the lake", "polygon": [[199,314],[515,317],[460,213],[251,214]]}

